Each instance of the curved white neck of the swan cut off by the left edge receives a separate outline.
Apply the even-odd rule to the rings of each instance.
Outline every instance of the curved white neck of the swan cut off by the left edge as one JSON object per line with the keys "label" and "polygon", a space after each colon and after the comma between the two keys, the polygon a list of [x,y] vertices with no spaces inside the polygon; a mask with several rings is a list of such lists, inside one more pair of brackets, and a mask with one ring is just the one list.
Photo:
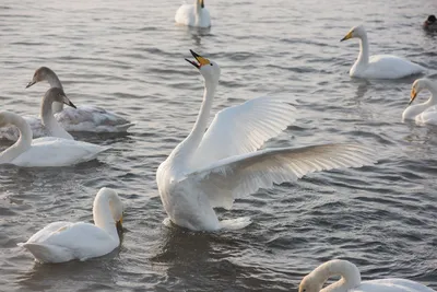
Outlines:
{"label": "curved white neck of the swan cut off by the left edge", "polygon": [[20,116],[11,117],[10,124],[19,128],[20,138],[13,145],[0,153],[0,164],[12,162],[23,152],[27,151],[32,144],[32,129],[24,118]]}

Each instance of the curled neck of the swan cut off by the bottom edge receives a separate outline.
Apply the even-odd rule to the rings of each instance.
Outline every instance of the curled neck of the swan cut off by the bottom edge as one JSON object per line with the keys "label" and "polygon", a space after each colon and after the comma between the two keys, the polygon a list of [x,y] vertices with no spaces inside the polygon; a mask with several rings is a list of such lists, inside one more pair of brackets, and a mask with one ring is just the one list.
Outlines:
{"label": "curled neck of the swan cut off by the bottom edge", "polygon": [[350,289],[359,285],[362,281],[358,268],[346,260],[328,261],[319,266],[311,272],[311,275],[314,279],[321,284],[327,282],[328,279],[333,276],[341,277],[339,281],[326,287],[320,292],[346,292]]}

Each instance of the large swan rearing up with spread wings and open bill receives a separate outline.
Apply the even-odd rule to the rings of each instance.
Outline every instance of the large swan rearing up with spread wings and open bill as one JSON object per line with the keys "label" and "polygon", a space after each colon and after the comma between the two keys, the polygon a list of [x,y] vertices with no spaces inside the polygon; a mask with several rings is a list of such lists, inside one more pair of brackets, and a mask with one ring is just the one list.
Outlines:
{"label": "large swan rearing up with spread wings and open bill", "polygon": [[208,119],[220,67],[191,50],[189,61],[204,79],[203,102],[196,124],[156,172],[158,191],[168,218],[193,231],[240,229],[249,219],[218,221],[213,208],[231,209],[234,199],[259,188],[295,180],[307,173],[373,164],[371,150],[358,144],[323,144],[299,149],[259,149],[284,130],[295,108],[281,98],[258,97],[225,108]]}

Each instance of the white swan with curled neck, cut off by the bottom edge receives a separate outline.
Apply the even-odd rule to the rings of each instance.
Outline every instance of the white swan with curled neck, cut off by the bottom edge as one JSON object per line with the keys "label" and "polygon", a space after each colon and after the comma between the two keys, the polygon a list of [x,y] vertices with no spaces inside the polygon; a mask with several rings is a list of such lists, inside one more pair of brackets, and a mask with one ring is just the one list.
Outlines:
{"label": "white swan with curled neck, cut off by the bottom edge", "polygon": [[[329,278],[341,279],[326,288]],[[358,268],[347,260],[332,259],[305,276],[298,292],[435,292],[433,289],[406,279],[362,281]]]}

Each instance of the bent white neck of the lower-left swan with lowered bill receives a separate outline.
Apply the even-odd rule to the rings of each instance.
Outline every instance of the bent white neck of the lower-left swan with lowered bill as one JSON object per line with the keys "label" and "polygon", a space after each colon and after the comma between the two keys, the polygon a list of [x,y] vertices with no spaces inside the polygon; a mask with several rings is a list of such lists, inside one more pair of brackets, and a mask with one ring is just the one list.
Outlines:
{"label": "bent white neck of the lower-left swan with lowered bill", "polygon": [[120,244],[116,222],[114,221],[113,213],[109,208],[109,200],[106,196],[99,196],[95,199],[93,206],[94,224],[107,232],[113,240]]}

